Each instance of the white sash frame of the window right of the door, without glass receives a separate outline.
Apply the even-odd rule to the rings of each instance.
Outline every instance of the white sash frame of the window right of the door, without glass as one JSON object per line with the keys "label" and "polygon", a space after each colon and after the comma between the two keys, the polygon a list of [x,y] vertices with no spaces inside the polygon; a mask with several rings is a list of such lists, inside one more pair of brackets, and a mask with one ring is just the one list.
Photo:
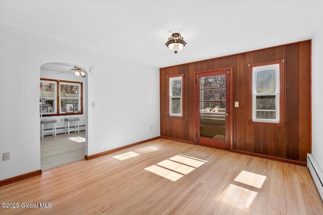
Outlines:
{"label": "white sash frame of the window right of the door, without glass", "polygon": [[[265,70],[273,70],[275,69],[275,92],[274,93],[257,93],[257,73]],[[275,96],[276,102],[276,118],[275,119],[257,119],[256,118],[256,97],[257,96]],[[262,110],[261,110],[262,111]],[[267,110],[266,110],[267,111]],[[271,122],[271,123],[279,123],[280,122],[280,64],[269,64],[269,65],[261,65],[252,67],[252,121],[255,122]]]}

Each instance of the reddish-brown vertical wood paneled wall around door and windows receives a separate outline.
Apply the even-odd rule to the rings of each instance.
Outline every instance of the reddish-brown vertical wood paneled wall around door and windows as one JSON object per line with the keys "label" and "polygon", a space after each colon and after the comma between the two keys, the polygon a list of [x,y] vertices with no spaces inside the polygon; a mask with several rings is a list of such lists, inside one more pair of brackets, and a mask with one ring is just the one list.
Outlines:
{"label": "reddish-brown vertical wood paneled wall around door and windows", "polygon": [[[248,64],[285,59],[285,127],[248,124]],[[306,162],[311,152],[311,41],[160,68],[160,135],[195,143],[194,71],[233,66],[233,149]],[[184,74],[184,118],[167,116],[167,76]]]}

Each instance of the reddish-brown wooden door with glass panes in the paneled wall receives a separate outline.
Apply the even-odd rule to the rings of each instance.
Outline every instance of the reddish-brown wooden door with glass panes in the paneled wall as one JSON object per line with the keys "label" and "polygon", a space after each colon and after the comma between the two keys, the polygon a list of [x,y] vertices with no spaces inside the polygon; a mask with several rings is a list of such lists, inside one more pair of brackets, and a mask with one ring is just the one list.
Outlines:
{"label": "reddish-brown wooden door with glass panes in the paneled wall", "polygon": [[230,69],[205,71],[196,77],[196,143],[230,150]]}

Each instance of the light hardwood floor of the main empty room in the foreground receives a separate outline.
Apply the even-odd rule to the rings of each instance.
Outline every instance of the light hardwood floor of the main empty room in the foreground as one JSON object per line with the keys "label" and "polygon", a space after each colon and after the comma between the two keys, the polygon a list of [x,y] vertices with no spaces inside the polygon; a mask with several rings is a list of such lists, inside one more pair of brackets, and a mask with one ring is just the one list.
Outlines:
{"label": "light hardwood floor of the main empty room in the foreground", "polygon": [[0,187],[0,201],[51,204],[0,214],[323,214],[306,167],[166,139]]}

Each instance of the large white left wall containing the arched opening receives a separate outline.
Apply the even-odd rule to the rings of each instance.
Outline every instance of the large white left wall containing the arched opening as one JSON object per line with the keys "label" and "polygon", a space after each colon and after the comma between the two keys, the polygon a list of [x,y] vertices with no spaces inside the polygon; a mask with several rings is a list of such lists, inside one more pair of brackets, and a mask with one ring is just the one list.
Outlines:
{"label": "large white left wall containing the arched opening", "polygon": [[[87,74],[86,155],[160,135],[158,68],[5,25],[0,34],[1,158],[10,152],[9,161],[0,161],[0,180],[40,170],[38,103],[44,62],[97,70]],[[91,102],[95,108],[88,105]]]}

